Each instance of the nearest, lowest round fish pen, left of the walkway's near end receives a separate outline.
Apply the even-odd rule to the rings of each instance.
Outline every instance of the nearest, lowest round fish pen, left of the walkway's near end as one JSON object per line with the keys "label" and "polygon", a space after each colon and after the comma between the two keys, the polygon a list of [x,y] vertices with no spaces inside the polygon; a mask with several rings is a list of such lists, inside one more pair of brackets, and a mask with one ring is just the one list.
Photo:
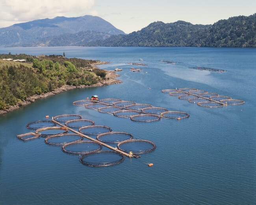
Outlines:
{"label": "nearest, lowest round fish pen, left of the walkway's near end", "polygon": [[124,161],[124,155],[116,151],[95,151],[80,156],[80,162],[87,166],[111,166]]}

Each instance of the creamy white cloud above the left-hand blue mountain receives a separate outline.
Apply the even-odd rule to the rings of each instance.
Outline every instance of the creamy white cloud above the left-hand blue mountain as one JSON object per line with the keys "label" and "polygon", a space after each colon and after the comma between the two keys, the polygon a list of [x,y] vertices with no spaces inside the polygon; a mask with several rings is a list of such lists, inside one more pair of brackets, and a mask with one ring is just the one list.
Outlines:
{"label": "creamy white cloud above the left-hand blue mountain", "polygon": [[89,13],[94,0],[1,0],[0,27],[57,16],[78,17]]}

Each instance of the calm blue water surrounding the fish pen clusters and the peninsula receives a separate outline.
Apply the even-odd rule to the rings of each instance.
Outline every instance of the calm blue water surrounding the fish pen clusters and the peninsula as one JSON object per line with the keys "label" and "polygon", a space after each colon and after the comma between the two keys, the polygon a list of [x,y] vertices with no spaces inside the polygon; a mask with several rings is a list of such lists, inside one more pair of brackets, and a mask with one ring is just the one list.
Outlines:
{"label": "calm blue water surrounding the fish pen clusters and the peninsula", "polygon": [[[1,205],[256,204],[255,48],[0,48],[0,53],[9,52],[65,52],[66,57],[109,61],[100,68],[122,68],[123,83],[70,90],[0,116]],[[143,72],[130,72],[127,63],[139,63],[140,58],[147,66],[133,67]],[[226,72],[189,69],[192,66]],[[207,108],[161,92],[182,87],[217,92],[245,104]],[[139,123],[72,105],[94,94],[184,111],[190,117]],[[16,138],[31,131],[26,129],[28,122],[61,114],[82,115],[113,131],[151,140],[157,148],[139,159],[91,168],[81,164],[78,156],[46,145],[44,139]]]}

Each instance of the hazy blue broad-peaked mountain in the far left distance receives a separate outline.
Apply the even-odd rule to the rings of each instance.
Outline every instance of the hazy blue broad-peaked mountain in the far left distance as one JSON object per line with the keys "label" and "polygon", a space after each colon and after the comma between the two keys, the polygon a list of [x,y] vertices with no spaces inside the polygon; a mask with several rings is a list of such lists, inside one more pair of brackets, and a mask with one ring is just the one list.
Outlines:
{"label": "hazy blue broad-peaked mountain in the far left distance", "polygon": [[[42,39],[53,39],[59,35],[75,34],[84,31],[93,31],[98,36],[124,34],[112,24],[100,17],[86,15],[83,17],[56,17],[33,20],[21,24],[14,24],[0,28],[0,46],[24,46],[42,43]],[[81,33],[82,34],[82,33]],[[98,40],[98,39],[94,39]]]}

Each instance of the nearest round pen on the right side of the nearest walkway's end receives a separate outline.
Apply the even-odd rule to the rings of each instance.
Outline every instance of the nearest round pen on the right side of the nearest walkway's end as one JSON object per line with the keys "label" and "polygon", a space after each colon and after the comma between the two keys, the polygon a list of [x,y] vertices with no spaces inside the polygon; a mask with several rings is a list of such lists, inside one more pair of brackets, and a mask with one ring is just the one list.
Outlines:
{"label": "nearest round pen on the right side of the nearest walkway's end", "polygon": [[149,140],[130,139],[119,142],[117,148],[127,153],[131,151],[134,154],[143,154],[156,149],[156,145]]}

